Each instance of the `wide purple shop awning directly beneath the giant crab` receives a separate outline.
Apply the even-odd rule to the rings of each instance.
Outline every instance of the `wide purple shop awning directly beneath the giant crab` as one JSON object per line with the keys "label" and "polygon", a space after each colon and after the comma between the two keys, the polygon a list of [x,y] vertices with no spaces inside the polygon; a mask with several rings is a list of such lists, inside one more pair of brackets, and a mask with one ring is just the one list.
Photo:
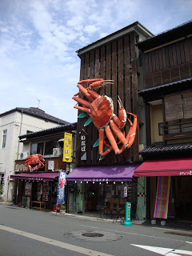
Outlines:
{"label": "wide purple shop awning directly beneath the giant crab", "polygon": [[82,182],[131,182],[138,165],[126,166],[85,166],[72,170],[67,175],[68,181]]}

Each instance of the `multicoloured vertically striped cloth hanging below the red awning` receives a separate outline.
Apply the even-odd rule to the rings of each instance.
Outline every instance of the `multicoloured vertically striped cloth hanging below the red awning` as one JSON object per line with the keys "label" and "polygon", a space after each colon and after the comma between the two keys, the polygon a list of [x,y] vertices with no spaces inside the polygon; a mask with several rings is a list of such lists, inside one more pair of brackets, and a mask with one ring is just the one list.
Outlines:
{"label": "multicoloured vertically striped cloth hanging below the red awning", "polygon": [[154,218],[167,218],[170,197],[170,176],[158,177]]}

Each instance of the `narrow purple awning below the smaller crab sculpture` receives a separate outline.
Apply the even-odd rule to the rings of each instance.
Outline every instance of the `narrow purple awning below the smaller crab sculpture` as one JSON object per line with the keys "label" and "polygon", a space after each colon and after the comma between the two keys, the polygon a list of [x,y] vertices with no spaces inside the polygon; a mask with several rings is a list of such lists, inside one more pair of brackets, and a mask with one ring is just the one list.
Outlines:
{"label": "narrow purple awning below the smaller crab sculpture", "polygon": [[10,178],[26,179],[28,181],[48,181],[54,182],[58,173],[22,173],[10,175]]}

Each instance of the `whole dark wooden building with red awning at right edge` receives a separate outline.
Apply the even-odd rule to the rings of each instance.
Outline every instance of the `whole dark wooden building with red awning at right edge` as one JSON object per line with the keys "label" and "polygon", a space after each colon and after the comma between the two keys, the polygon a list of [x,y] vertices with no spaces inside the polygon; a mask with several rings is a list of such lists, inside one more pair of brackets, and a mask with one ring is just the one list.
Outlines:
{"label": "whole dark wooden building with red awning at right edge", "polygon": [[[192,21],[137,44],[144,63],[144,88],[138,95],[146,103],[147,146],[140,151],[146,161],[134,176],[146,177],[148,218],[154,216],[160,176],[170,176],[168,218],[192,216],[191,31]],[[149,170],[151,162],[154,169]]]}

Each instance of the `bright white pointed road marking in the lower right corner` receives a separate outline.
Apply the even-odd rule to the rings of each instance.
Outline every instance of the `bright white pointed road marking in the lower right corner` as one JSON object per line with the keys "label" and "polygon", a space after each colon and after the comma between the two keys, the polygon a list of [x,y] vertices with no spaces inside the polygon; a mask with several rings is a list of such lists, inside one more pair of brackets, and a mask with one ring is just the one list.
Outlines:
{"label": "bright white pointed road marking in the lower right corner", "polygon": [[181,254],[185,255],[192,255],[192,251],[190,250],[174,250],[171,248],[163,248],[163,247],[155,247],[155,246],[141,246],[141,245],[134,245],[131,246],[137,246],[145,250],[153,251],[154,253],[166,255],[166,256],[181,256]]}

